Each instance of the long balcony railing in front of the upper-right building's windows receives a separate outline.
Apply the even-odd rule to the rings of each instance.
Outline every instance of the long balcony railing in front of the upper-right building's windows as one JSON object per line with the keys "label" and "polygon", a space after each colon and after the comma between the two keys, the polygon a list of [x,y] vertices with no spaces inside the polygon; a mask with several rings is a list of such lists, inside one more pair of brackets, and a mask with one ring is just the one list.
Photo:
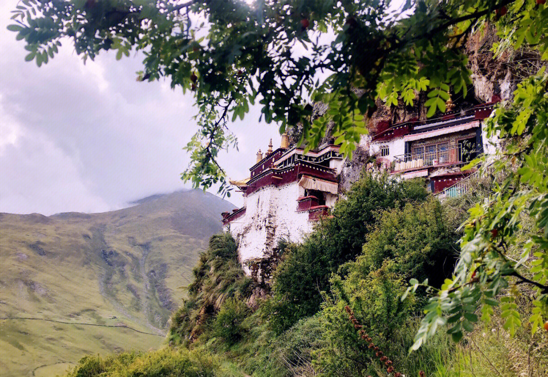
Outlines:
{"label": "long balcony railing in front of the upper-right building's windows", "polygon": [[475,148],[464,144],[452,146],[426,146],[406,155],[395,156],[391,172],[418,169],[436,165],[458,164],[471,161],[477,156]]}

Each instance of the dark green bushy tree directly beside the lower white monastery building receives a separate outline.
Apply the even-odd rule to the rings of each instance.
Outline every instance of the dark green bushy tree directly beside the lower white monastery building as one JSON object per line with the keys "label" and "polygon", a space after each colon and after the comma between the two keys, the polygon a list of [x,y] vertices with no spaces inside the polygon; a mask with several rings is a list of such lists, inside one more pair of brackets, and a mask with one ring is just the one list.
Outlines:
{"label": "dark green bushy tree directly beside the lower white monastery building", "polygon": [[271,316],[273,328],[280,332],[319,310],[321,291],[329,289],[330,275],[361,253],[379,210],[422,201],[427,195],[421,180],[398,182],[386,174],[364,174],[335,204],[331,218],[284,253],[269,302],[275,314]]}

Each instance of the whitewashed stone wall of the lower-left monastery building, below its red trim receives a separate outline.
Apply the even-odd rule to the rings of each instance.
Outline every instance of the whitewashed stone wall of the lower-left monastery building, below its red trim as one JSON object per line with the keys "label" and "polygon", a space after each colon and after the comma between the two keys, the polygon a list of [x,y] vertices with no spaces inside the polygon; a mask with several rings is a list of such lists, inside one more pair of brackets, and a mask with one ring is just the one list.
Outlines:
{"label": "whitewashed stone wall of the lower-left monastery building, below its red trim", "polygon": [[292,182],[262,187],[244,199],[246,214],[225,227],[238,243],[241,262],[264,258],[280,238],[298,242],[312,230],[309,213],[296,212],[297,199],[303,193],[304,189]]}

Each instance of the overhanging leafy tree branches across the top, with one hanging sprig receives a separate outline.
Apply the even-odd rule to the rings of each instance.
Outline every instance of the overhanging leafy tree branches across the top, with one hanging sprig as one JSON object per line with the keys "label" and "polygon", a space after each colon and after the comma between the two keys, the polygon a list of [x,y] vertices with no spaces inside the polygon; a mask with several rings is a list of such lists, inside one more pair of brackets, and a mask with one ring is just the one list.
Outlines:
{"label": "overhanging leafy tree branches across the top, with one hanging sprig", "polygon": [[[22,0],[8,29],[38,66],[67,37],[84,61],[104,50],[117,59],[142,52],[139,79],[167,77],[195,96],[198,131],[182,178],[204,188],[220,182],[224,191],[216,157],[236,143],[226,123],[256,100],[281,131],[302,124],[310,148],[333,122],[350,156],[376,98],[410,105],[427,90],[431,116],[445,110],[449,87],[466,95],[470,71],[459,47],[478,21],[495,22],[516,47],[527,39],[548,54],[546,12],[533,0],[407,0],[399,8],[389,0]],[[313,122],[310,100],[329,105]]]}

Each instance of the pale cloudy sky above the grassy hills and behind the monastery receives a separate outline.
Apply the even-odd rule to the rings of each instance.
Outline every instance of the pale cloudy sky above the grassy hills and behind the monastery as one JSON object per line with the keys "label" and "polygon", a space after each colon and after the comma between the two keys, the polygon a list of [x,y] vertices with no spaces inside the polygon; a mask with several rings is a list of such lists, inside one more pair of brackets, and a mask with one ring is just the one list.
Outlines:
{"label": "pale cloudy sky above the grassy hills and behind the monastery", "polygon": [[[6,30],[15,4],[0,5],[0,212],[104,212],[185,187],[191,95],[136,82],[139,56],[103,54],[84,65],[66,43],[45,66],[25,62],[24,44]],[[239,152],[222,159],[231,178],[247,176],[271,137],[279,145],[276,125],[258,118],[255,108],[231,125]]]}

